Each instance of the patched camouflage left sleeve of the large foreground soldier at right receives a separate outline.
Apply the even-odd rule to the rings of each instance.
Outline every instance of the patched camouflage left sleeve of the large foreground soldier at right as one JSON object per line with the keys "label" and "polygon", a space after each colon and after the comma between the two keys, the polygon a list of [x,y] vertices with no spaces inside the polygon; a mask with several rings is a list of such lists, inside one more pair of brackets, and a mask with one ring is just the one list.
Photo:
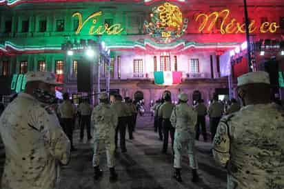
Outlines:
{"label": "patched camouflage left sleeve of the large foreground soldier at right", "polygon": [[230,137],[227,132],[227,123],[220,121],[213,140],[213,156],[217,163],[225,168],[230,160]]}

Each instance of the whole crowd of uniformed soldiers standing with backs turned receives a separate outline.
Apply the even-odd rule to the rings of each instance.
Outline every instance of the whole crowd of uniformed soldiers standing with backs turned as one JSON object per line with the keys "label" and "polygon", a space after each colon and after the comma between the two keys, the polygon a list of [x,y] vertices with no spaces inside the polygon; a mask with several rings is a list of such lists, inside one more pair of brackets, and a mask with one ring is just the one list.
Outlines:
{"label": "whole crowd of uniformed soldiers standing with backs turned", "polygon": [[[54,88],[61,83],[55,81],[51,72],[28,72],[26,82],[25,92],[0,117],[1,138],[6,149],[2,188],[57,188],[59,169],[70,161],[70,150],[76,150],[72,132],[77,110],[67,93],[58,107],[53,105]],[[195,140],[202,134],[207,141],[205,116],[208,115],[212,154],[227,169],[228,189],[284,188],[284,110],[271,102],[269,75],[267,72],[244,74],[238,78],[237,90],[243,108],[232,99],[230,107],[224,110],[216,96],[208,108],[202,99],[196,106],[190,106],[183,92],[176,105],[168,93],[154,105],[154,131],[159,132],[159,139],[163,141],[163,154],[167,153],[170,135],[176,181],[182,181],[183,148],[190,161],[192,182],[199,181]],[[130,98],[123,100],[120,94],[110,102],[108,94],[102,92],[97,106],[92,108],[84,101],[78,111],[80,139],[83,140],[85,127],[88,139],[94,139],[94,179],[102,177],[99,157],[106,150],[110,181],[116,181],[114,154],[118,139],[123,153],[127,152],[127,129],[129,139],[134,139],[137,115],[134,103]],[[94,128],[93,136],[90,126]]]}

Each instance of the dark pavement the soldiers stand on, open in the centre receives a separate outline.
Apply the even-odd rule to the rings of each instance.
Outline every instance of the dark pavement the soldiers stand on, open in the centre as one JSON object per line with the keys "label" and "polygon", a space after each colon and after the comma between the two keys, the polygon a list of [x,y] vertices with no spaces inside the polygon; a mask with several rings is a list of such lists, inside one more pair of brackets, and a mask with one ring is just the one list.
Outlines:
{"label": "dark pavement the soldiers stand on, open in the centre", "polygon": [[[72,152],[72,159],[68,166],[61,170],[60,189],[179,189],[179,188],[225,188],[226,172],[214,163],[210,155],[210,143],[196,141],[199,161],[199,183],[191,182],[191,170],[188,158],[184,153],[182,163],[183,183],[172,179],[172,154],[161,154],[162,142],[153,131],[154,117],[145,115],[138,117],[134,140],[127,137],[128,152],[116,155],[116,172],[119,180],[109,182],[109,170],[106,166],[106,157],[101,157],[103,178],[93,179],[92,168],[92,141],[79,142],[79,130],[74,132],[74,143],[78,150]],[[201,137],[202,138],[202,137]],[[169,145],[170,146],[170,145]],[[3,171],[5,156],[0,152],[0,171]]]}

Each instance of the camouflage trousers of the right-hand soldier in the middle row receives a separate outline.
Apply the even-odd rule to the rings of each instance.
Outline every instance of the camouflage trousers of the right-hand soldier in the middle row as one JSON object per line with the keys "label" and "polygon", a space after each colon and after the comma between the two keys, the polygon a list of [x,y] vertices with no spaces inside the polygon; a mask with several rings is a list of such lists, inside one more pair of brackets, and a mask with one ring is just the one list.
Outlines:
{"label": "camouflage trousers of the right-hand soldier in the middle row", "polygon": [[182,150],[187,148],[187,155],[190,159],[190,168],[197,169],[198,163],[195,155],[194,137],[181,135],[176,132],[174,135],[174,168],[181,168]]}

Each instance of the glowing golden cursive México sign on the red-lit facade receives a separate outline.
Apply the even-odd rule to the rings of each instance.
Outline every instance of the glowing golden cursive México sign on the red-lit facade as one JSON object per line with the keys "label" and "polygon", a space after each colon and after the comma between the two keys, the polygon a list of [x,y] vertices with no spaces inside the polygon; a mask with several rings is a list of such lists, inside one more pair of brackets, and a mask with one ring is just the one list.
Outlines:
{"label": "glowing golden cursive M\u00e9xico sign on the red-lit facade", "polygon": [[[210,32],[214,26],[216,26],[216,22],[218,19],[221,19],[221,34],[232,34],[232,33],[245,33],[245,23],[239,23],[236,19],[229,20],[228,17],[230,15],[230,10],[225,9],[220,12],[212,12],[210,14],[199,14],[195,21],[199,21],[202,19],[202,23],[199,26],[199,32],[205,30],[207,26],[207,31]],[[261,33],[274,33],[276,30],[280,28],[276,22],[263,22],[260,27],[255,26],[255,21],[252,20],[249,25],[250,33],[259,30]]]}

